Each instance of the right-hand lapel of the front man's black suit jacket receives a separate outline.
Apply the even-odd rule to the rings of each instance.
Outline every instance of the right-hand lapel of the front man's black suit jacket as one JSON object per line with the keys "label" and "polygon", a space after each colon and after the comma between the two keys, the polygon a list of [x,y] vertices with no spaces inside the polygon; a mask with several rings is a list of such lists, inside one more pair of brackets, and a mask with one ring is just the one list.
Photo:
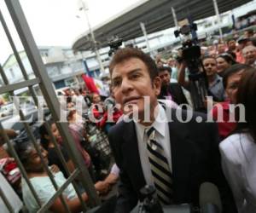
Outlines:
{"label": "right-hand lapel of the front man's black suit jacket", "polygon": [[[172,113],[174,112],[172,111]],[[189,187],[193,147],[189,140],[189,131],[186,124],[173,120],[174,122],[169,123],[169,132],[172,150],[174,199],[183,200]]]}

